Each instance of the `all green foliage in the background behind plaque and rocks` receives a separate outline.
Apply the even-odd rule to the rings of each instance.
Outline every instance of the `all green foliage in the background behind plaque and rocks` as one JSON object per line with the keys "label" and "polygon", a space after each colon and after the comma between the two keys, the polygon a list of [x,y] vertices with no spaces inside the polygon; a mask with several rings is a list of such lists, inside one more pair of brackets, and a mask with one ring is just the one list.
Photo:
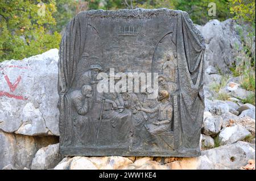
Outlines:
{"label": "all green foliage in the background behind plaque and rocks", "polygon": [[[216,3],[216,16],[208,15],[210,2]],[[42,9],[38,3],[41,1],[0,1],[0,61],[21,59],[58,48],[61,38],[59,33],[73,16],[83,10],[166,7],[187,11],[196,24],[204,24],[210,19],[225,20],[236,16],[237,19],[254,22],[255,27],[255,2],[246,0],[42,0],[46,10],[46,15],[43,16],[38,14]],[[251,36],[255,37],[255,30],[253,32]],[[251,53],[249,56],[252,57]]]}

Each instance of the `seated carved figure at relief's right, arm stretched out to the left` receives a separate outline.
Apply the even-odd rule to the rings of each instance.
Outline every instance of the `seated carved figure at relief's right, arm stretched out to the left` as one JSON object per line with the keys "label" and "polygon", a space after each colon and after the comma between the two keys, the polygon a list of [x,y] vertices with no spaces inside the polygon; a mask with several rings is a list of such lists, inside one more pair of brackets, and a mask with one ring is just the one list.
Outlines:
{"label": "seated carved figure at relief's right, arm stretched out to the left", "polygon": [[160,90],[158,100],[161,102],[154,108],[137,107],[137,110],[147,113],[158,112],[158,120],[145,125],[147,131],[152,135],[162,134],[171,131],[172,121],[172,104],[168,100],[170,94],[166,90]]}

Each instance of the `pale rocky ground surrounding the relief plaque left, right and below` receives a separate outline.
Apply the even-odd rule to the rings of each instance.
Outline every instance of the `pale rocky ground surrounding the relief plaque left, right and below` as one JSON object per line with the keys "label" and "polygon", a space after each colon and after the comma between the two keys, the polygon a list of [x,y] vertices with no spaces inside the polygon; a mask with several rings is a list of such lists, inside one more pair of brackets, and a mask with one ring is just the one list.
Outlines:
{"label": "pale rocky ground surrounding the relief plaque left, right and below", "polygon": [[51,49],[0,64],[0,169],[255,169],[255,106],[243,102],[253,92],[229,72],[241,47],[237,24],[212,20],[197,28],[206,43],[200,157],[167,157],[164,165],[159,157],[61,157],[59,57]]}

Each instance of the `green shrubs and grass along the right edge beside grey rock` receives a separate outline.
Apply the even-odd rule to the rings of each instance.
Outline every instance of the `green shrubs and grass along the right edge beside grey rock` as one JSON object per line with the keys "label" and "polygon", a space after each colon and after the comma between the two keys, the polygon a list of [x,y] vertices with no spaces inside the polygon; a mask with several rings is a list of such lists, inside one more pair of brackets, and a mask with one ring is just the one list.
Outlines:
{"label": "green shrubs and grass along the right edge beside grey rock", "polygon": [[241,76],[241,87],[248,91],[254,91],[243,103],[255,105],[255,1],[229,0],[230,12],[235,14],[235,19],[242,23],[237,31],[242,40],[242,49],[237,48],[236,61],[238,65],[233,65],[230,70],[234,76]]}

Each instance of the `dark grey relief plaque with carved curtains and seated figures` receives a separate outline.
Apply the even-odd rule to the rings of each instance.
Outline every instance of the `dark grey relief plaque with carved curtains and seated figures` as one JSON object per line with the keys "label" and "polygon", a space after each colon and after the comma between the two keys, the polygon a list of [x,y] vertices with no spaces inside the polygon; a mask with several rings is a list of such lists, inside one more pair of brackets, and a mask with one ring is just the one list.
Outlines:
{"label": "dark grey relief plaque with carved curtains and seated figures", "polygon": [[204,40],[169,9],[83,11],[59,51],[64,155],[200,155]]}

